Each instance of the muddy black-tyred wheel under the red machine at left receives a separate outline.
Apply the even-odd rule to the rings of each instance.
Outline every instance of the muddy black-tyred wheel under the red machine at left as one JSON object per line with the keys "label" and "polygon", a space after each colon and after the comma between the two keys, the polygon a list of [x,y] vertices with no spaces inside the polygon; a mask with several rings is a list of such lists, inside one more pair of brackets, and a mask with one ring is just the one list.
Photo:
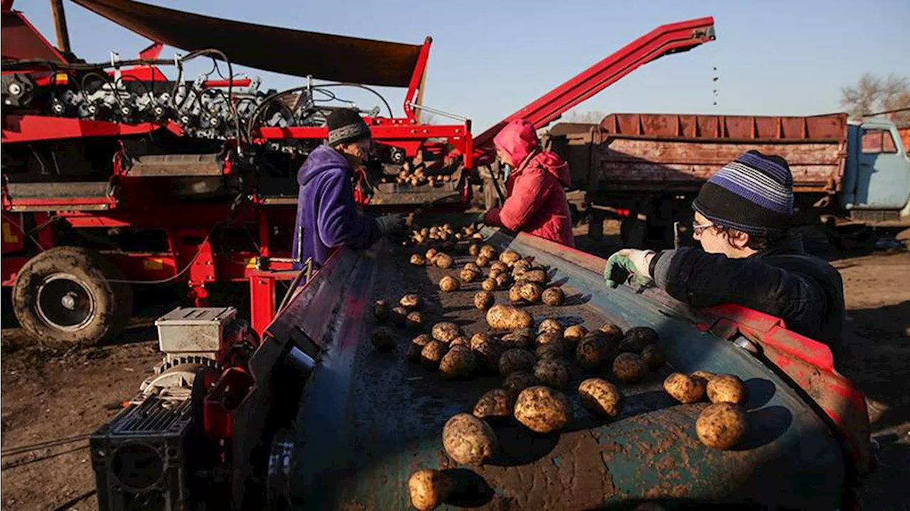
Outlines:
{"label": "muddy black-tyred wheel under the red machine at left", "polygon": [[119,270],[94,250],[57,246],[32,257],[15,277],[19,325],[46,344],[93,345],[118,335],[133,311]]}

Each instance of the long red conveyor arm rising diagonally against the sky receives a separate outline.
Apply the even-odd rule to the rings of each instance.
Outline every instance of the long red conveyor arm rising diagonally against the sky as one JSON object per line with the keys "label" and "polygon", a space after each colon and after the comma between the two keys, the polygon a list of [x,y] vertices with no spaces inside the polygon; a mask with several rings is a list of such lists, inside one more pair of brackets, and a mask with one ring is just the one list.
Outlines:
{"label": "long red conveyor arm rising diagonally against the sky", "polygon": [[514,119],[525,118],[541,129],[638,66],[663,55],[691,50],[713,39],[714,18],[711,16],[658,26],[474,137],[475,155],[490,155],[493,137]]}

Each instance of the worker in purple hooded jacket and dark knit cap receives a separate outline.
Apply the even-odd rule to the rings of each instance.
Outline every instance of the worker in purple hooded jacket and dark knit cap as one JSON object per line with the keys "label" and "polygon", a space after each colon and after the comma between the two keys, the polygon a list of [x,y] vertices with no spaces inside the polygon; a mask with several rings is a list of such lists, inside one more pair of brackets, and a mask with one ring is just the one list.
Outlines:
{"label": "worker in purple hooded jacket and dark knit cap", "polygon": [[300,261],[298,269],[309,257],[319,267],[339,246],[367,248],[404,228],[401,215],[369,218],[360,215],[354,203],[354,166],[363,162],[371,143],[363,117],[355,110],[339,109],[329,115],[327,124],[328,144],[310,153],[297,174],[300,190],[291,252]]}

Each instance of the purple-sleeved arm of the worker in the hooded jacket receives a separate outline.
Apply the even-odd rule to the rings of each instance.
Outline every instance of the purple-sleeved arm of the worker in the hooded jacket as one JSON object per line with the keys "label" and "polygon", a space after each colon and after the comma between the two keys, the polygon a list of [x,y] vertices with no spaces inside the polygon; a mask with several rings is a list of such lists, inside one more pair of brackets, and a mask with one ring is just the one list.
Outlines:
{"label": "purple-sleeved arm of the worker in the hooded jacket", "polygon": [[347,175],[340,172],[327,175],[321,192],[317,225],[323,245],[366,248],[379,239],[376,222],[358,215]]}

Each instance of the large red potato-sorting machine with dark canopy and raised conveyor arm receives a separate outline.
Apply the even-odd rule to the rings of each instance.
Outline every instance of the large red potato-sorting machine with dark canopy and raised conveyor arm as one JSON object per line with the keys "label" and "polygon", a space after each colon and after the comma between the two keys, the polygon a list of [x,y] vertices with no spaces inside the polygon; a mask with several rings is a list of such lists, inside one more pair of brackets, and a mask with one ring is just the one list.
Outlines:
{"label": "large red potato-sorting machine with dark canopy and raised conveyor arm", "polygon": [[[288,270],[297,169],[327,136],[326,115],[350,106],[340,102],[345,87],[407,87],[403,116],[378,94],[381,107],[361,111],[376,142],[355,191],[367,214],[463,209],[472,185],[485,181],[495,198],[495,165],[486,169],[502,125],[524,117],[543,127],[639,65],[713,39],[710,17],[663,25],[473,136],[463,117],[420,123],[423,111],[445,115],[422,105],[429,37],[405,45],[126,0],[76,3],[154,43],[136,59],[112,54],[88,64],[68,53],[61,3],[52,2],[59,48],[12,0],[0,3],[0,283],[13,287],[21,326],[44,342],[113,338],[130,316],[133,286],[170,282],[186,283],[193,304],[206,306],[208,286],[247,281],[261,332],[278,283],[296,275]],[[160,58],[163,45],[188,53]],[[197,59],[212,67],[189,76]],[[295,75],[303,85],[265,90],[234,65]]]}

